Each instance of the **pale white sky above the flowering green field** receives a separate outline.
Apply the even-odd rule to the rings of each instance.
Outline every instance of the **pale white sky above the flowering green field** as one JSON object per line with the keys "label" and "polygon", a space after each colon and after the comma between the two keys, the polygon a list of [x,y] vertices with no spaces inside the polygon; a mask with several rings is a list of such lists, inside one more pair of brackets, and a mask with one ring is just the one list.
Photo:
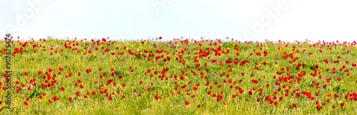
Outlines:
{"label": "pale white sky above the flowering green field", "polygon": [[[26,2],[24,2],[26,1]],[[0,36],[21,38],[357,40],[356,0],[0,0]],[[38,1],[39,11],[28,2]],[[277,4],[286,9],[278,9]],[[153,3],[161,4],[156,11]],[[271,18],[265,9],[278,9]],[[34,11],[34,13],[26,11]],[[275,13],[275,12],[274,12]],[[16,15],[17,14],[17,15]],[[26,23],[19,18],[25,18]],[[271,18],[263,31],[254,20]],[[268,22],[268,20],[263,20]],[[246,38],[249,31],[256,36]]]}

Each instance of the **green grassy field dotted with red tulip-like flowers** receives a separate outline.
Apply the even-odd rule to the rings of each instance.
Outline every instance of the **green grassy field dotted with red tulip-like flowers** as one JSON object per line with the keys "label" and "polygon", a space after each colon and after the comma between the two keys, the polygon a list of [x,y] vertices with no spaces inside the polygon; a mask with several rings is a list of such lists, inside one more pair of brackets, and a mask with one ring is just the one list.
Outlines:
{"label": "green grassy field dotted with red tulip-like flowers", "polygon": [[2,39],[1,114],[357,114],[356,46]]}

